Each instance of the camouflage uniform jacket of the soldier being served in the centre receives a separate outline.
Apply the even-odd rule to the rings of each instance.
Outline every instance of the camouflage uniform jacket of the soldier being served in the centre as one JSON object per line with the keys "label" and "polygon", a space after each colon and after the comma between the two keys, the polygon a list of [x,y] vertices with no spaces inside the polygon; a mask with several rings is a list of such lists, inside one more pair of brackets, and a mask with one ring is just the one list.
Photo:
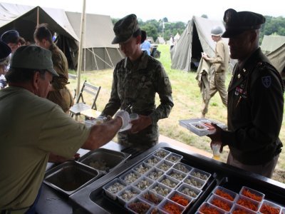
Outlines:
{"label": "camouflage uniform jacket of the soldier being served in the centre", "polygon": [[[160,104],[155,105],[155,94],[160,97]],[[138,61],[129,58],[120,61],[113,73],[110,99],[102,114],[113,116],[118,109],[125,109],[132,104],[132,112],[152,118],[152,126],[137,134],[119,133],[120,143],[148,144],[158,141],[157,121],[167,118],[173,106],[170,79],[155,58],[143,51]]]}

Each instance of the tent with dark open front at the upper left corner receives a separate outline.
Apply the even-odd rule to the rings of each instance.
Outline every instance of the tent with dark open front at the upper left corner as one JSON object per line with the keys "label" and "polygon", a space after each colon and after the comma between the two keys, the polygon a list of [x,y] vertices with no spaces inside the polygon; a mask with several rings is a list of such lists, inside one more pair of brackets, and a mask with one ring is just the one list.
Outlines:
{"label": "tent with dark open front at the upper left corner", "polygon": [[74,53],[78,51],[73,27],[62,9],[41,8],[19,4],[0,3],[0,34],[16,29],[26,41],[33,43],[33,32],[37,24],[46,23],[48,29],[58,34],[58,47],[66,54],[68,66],[75,67]]}

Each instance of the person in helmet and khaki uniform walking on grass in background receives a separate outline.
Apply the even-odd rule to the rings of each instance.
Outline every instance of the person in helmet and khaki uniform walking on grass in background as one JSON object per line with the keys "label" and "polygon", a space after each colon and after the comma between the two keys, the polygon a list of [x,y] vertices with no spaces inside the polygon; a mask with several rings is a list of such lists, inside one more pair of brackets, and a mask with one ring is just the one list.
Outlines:
{"label": "person in helmet and khaki uniform walking on grass in background", "polygon": [[209,95],[205,96],[204,106],[202,108],[202,118],[208,112],[209,101],[217,91],[221,96],[222,103],[227,106],[227,88],[225,85],[227,69],[229,67],[229,46],[222,40],[222,28],[215,26],[211,30],[212,40],[215,41],[214,58],[209,58],[207,54],[202,53],[202,57],[209,61],[213,72],[209,81]]}

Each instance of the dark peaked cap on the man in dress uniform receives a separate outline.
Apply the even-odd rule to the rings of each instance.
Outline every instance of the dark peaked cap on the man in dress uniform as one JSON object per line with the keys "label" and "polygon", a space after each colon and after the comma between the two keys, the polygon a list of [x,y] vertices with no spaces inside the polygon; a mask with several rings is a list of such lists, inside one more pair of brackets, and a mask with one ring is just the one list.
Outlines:
{"label": "dark peaked cap on the man in dress uniform", "polygon": [[251,11],[237,12],[234,9],[227,9],[224,12],[224,22],[226,31],[222,37],[231,38],[244,31],[260,29],[261,24],[265,22],[265,17]]}

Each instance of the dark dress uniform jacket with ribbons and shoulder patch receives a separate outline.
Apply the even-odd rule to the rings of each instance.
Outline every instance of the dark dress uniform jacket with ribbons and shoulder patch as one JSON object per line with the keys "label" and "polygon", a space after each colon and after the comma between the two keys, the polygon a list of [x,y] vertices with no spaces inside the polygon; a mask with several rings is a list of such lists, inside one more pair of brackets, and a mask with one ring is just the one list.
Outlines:
{"label": "dark dress uniform jacket with ribbons and shoulder patch", "polygon": [[222,131],[222,143],[232,156],[246,165],[261,165],[280,153],[279,140],[284,96],[278,71],[260,49],[235,66],[229,83],[229,131]]}

